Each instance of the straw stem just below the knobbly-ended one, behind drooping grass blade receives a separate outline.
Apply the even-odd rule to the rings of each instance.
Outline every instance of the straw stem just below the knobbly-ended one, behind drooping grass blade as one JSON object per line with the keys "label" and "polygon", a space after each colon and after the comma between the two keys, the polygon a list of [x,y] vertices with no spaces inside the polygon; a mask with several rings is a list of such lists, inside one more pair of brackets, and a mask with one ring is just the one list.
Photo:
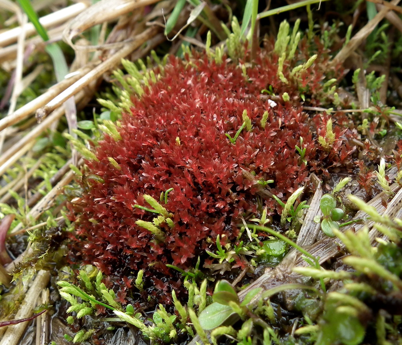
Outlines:
{"label": "straw stem just below the knobbly-ended one, behind drooping grass blade", "polygon": [[[79,92],[76,95],[76,101],[80,101],[84,97],[84,92]],[[59,107],[51,115],[49,115],[44,121],[39,123],[36,127],[31,129],[29,133],[23,137],[21,140],[16,142],[13,146],[11,146],[6,152],[4,152],[0,156],[0,175],[4,174],[7,169],[11,166],[9,158],[12,157],[13,161],[16,162],[19,158],[25,154],[29,150],[28,146],[33,146],[35,144],[35,139],[39,137],[43,131],[49,128],[52,123],[60,119],[64,115],[64,106]],[[24,148],[28,148],[24,150]]]}

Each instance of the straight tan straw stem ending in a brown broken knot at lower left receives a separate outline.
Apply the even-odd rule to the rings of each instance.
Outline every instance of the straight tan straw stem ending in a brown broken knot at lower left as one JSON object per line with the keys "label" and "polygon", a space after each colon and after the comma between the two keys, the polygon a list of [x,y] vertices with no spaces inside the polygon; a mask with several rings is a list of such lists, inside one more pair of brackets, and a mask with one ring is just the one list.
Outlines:
{"label": "straight tan straw stem ending in a brown broken knot at lower left", "polygon": [[92,80],[100,77],[106,71],[115,68],[120,63],[123,57],[126,57],[134,49],[137,49],[143,43],[148,41],[148,39],[156,35],[159,30],[160,30],[159,27],[150,27],[140,35],[134,37],[133,41],[128,42],[125,47],[121,48],[107,60],[105,60],[104,62],[96,66],[93,70],[84,75],[80,80],[76,81],[66,90],[58,94],[54,99],[52,99],[49,103],[47,103],[45,107],[38,109],[36,112],[37,118],[43,119],[49,113],[51,113],[51,111],[62,105],[67,99],[74,96],[84,87],[88,86],[88,84],[92,82]]}

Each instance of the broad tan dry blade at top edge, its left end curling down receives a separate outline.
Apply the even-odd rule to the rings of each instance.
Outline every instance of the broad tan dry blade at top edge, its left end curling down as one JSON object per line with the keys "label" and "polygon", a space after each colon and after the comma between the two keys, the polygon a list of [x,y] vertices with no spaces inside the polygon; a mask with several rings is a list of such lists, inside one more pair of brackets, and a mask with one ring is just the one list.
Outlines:
{"label": "broad tan dry blade at top edge, its left end curling down", "polygon": [[74,49],[72,39],[94,25],[110,21],[113,18],[144,7],[158,0],[100,0],[74,18],[63,32],[64,40]]}

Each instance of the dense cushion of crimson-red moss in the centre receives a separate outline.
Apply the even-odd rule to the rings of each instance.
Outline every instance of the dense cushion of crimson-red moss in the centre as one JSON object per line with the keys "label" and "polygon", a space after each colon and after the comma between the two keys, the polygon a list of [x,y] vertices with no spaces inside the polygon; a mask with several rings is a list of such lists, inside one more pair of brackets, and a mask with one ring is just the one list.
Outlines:
{"label": "dense cushion of crimson-red moss in the centre", "polygon": [[[332,119],[324,147],[318,137],[327,137],[330,117],[309,115],[301,105],[301,92],[310,105],[320,104],[327,55],[297,78],[293,62],[278,73],[269,49],[252,66],[211,60],[204,53],[170,57],[140,97],[128,90],[133,105],[123,111],[119,135],[105,134],[96,159],[86,161],[85,173],[99,181],[83,186],[70,205],[71,262],[116,278],[144,269],[144,279],[169,292],[180,275],[166,264],[186,270],[198,257],[211,259],[205,249],[214,249],[217,235],[222,244],[235,240],[244,214],[258,213],[258,198],[271,215],[280,213],[274,199],[258,197],[264,181],[273,180],[263,188],[285,200],[312,172],[349,164],[355,150],[349,140],[357,135],[349,119]],[[234,265],[244,261],[235,256]]]}

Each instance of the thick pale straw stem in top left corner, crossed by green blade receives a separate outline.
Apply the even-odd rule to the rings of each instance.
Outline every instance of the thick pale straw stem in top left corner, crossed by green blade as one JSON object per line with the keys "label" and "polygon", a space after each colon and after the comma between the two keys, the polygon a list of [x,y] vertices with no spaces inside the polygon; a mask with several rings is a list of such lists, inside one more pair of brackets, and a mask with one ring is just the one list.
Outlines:
{"label": "thick pale straw stem in top left corner, crossed by green blade", "polygon": [[[79,13],[88,7],[88,2],[78,2],[74,5],[63,8],[59,11],[47,14],[42,18],[39,18],[40,23],[45,29],[62,24],[71,18],[76,17]],[[15,43],[21,31],[25,29],[26,35],[31,36],[36,33],[36,29],[32,23],[27,23],[24,28],[16,27],[8,31],[0,33],[0,47]]]}

